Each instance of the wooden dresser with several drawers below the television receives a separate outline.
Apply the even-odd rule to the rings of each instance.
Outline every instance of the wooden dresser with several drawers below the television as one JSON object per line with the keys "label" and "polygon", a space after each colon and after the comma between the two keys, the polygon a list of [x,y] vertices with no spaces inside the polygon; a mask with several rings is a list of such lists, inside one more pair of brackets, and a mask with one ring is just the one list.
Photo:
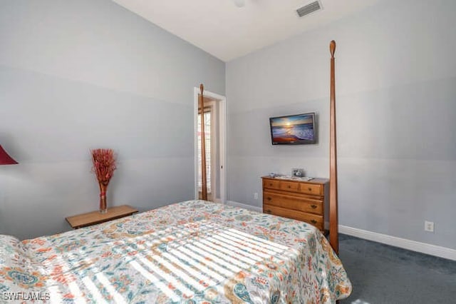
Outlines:
{"label": "wooden dresser with several drawers below the television", "polygon": [[262,179],[263,213],[294,218],[324,231],[327,179],[300,181],[269,176]]}

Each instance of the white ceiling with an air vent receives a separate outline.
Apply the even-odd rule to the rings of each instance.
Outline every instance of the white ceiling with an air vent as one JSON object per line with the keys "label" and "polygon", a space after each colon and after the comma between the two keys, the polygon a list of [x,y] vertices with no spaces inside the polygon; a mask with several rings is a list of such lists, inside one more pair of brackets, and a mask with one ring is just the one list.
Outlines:
{"label": "white ceiling with an air vent", "polygon": [[380,0],[321,0],[323,10],[299,18],[314,0],[113,0],[153,24],[230,61],[303,31],[360,11]]}

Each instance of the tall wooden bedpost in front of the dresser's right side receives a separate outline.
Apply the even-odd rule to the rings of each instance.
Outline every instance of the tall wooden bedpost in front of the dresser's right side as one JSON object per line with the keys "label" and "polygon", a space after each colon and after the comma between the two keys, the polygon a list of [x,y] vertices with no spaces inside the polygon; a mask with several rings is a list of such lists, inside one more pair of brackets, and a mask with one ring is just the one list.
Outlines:
{"label": "tall wooden bedpost in front of the dresser's right side", "polygon": [[336,76],[334,73],[334,53],[336,41],[329,44],[331,53],[330,90],[330,131],[329,131],[329,243],[336,254],[339,253],[338,208],[337,208],[337,145],[336,145]]}

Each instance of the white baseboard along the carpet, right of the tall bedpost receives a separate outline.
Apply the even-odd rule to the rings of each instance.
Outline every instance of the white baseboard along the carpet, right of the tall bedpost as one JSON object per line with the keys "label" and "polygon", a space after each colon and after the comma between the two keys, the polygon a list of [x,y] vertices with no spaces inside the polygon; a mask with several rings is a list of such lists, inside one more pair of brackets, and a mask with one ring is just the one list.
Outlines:
{"label": "white baseboard along the carpet, right of the tall bedpost", "polygon": [[364,238],[366,240],[373,240],[374,242],[392,245],[408,250],[418,251],[428,255],[435,255],[440,258],[448,260],[456,260],[456,250],[427,243],[420,243],[415,240],[408,240],[406,238],[397,238],[395,236],[386,235],[382,233],[371,232],[358,228],[339,225],[339,233],[356,236],[357,238]]}

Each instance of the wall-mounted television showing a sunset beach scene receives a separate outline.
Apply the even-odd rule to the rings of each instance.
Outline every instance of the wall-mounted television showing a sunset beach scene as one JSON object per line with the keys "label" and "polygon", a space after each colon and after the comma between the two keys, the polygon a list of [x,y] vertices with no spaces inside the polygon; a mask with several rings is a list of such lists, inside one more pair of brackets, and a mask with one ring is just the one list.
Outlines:
{"label": "wall-mounted television showing a sunset beach scene", "polygon": [[273,145],[316,143],[315,113],[269,118]]}

